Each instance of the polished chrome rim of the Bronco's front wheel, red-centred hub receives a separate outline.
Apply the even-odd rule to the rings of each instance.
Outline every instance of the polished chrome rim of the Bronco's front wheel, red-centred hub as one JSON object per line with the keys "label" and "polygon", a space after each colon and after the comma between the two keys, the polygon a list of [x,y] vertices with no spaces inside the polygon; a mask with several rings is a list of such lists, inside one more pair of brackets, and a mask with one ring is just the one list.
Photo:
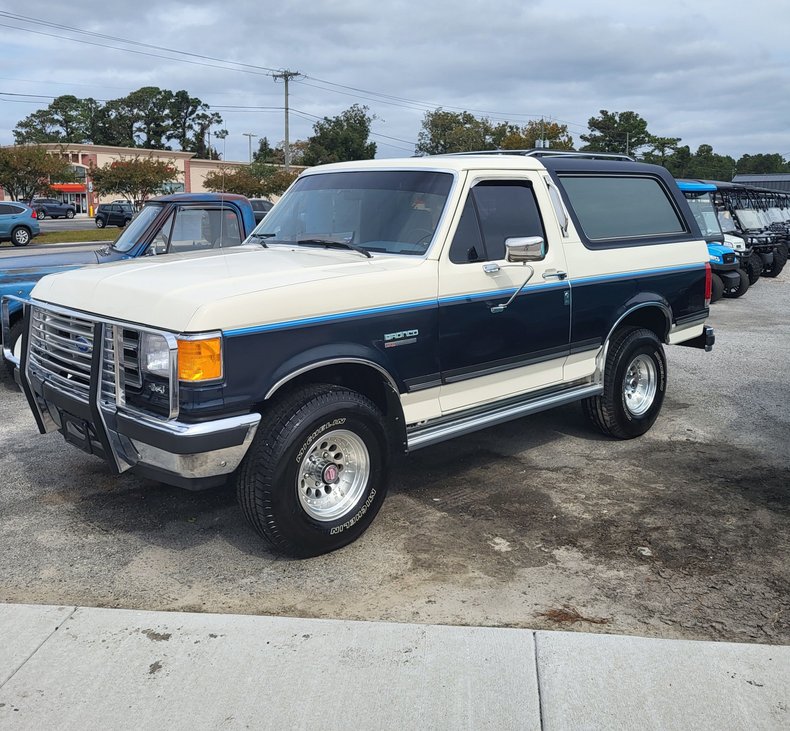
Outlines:
{"label": "polished chrome rim of the Bronco's front wheel, red-centred hub", "polygon": [[337,520],[357,505],[370,478],[370,454],[354,432],[336,429],[318,439],[305,455],[296,492],[314,520]]}

